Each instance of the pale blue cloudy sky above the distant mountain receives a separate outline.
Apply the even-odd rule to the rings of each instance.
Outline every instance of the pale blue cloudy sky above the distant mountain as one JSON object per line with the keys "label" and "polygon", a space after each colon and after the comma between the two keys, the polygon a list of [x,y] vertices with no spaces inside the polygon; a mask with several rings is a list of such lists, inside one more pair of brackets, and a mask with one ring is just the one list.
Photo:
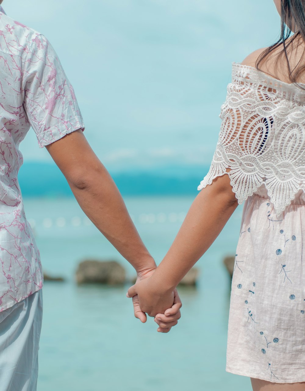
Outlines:
{"label": "pale blue cloudy sky above the distant mountain", "polygon": [[[108,169],[209,164],[232,61],[279,32],[272,0],[5,0],[43,33]],[[33,132],[26,161],[50,158]]]}

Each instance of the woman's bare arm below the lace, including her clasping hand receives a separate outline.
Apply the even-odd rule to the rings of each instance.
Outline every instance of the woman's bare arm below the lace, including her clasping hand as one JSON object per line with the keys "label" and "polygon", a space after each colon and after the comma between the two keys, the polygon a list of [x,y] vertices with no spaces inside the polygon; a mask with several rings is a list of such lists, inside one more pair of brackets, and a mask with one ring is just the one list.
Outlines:
{"label": "woman's bare arm below the lace, including her clasping hand", "polygon": [[211,246],[237,205],[228,175],[202,189],[153,276],[131,287],[128,297],[138,294],[142,311],[150,316],[164,312],[170,292]]}

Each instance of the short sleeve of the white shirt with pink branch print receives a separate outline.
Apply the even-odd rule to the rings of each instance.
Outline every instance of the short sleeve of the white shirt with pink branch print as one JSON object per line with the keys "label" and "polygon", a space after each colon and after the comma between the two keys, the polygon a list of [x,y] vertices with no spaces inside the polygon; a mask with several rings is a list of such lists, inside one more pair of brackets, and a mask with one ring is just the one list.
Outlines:
{"label": "short sleeve of the white shirt with pink branch print", "polygon": [[23,108],[43,148],[77,129],[83,118],[72,85],[49,41],[41,34],[30,40],[23,66]]}

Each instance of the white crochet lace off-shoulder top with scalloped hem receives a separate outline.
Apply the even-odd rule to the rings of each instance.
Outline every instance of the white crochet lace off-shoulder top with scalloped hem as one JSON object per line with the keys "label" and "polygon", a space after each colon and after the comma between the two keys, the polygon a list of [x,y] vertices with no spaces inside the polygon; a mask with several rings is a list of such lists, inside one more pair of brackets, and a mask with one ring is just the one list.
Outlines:
{"label": "white crochet lace off-shoulder top with scalloped hem", "polygon": [[305,90],[233,63],[220,118],[213,161],[198,190],[227,172],[238,203],[264,185],[279,215],[305,190]]}

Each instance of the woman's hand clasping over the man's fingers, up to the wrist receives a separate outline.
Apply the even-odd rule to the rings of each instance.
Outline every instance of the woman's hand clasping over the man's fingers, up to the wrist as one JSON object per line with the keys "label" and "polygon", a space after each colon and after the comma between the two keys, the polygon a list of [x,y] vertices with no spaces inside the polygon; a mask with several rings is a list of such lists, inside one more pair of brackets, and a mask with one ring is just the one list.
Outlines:
{"label": "woman's hand clasping over the man's fingers, up to the wrist", "polygon": [[[137,281],[128,289],[127,297],[138,295],[138,305],[149,316],[164,314],[174,303],[174,292],[159,287],[153,277]],[[179,296],[178,296],[179,297]]]}

